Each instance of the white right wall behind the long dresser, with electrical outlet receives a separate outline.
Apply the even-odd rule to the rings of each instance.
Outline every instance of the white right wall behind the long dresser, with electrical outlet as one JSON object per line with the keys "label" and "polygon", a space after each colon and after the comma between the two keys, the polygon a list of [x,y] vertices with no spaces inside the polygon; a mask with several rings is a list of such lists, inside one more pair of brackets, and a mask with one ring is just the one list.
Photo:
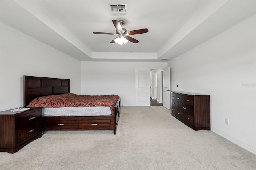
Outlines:
{"label": "white right wall behind the long dresser, with electrical outlet", "polygon": [[255,21],[254,15],[168,62],[171,90],[209,94],[211,130],[254,154]]}

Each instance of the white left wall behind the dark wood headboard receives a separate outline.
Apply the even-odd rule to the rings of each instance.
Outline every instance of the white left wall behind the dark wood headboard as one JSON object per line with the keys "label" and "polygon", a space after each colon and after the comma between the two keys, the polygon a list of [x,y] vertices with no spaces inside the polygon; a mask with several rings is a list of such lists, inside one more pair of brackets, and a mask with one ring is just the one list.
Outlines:
{"label": "white left wall behind the dark wood headboard", "polygon": [[23,106],[23,75],[70,79],[81,92],[80,61],[1,22],[0,111]]}

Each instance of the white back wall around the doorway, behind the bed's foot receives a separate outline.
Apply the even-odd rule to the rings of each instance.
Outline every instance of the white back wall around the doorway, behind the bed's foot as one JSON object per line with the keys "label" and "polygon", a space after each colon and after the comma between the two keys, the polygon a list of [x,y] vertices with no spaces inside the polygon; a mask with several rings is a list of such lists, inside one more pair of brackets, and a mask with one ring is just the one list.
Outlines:
{"label": "white back wall around the doorway, behind the bed's foot", "polygon": [[121,97],[121,105],[135,106],[136,69],[163,69],[165,62],[82,62],[81,94]]}

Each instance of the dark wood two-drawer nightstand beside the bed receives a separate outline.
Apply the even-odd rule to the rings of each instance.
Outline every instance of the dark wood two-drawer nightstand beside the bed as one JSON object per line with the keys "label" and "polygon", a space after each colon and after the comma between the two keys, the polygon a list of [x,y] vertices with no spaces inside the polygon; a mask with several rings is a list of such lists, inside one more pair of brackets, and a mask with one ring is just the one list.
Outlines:
{"label": "dark wood two-drawer nightstand beside the bed", "polygon": [[0,112],[0,151],[15,153],[42,137],[42,108]]}

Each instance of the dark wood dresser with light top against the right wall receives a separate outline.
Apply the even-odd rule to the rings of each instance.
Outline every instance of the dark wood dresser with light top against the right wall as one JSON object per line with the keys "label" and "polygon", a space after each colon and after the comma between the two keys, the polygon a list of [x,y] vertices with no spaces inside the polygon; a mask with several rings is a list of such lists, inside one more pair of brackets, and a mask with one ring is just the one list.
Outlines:
{"label": "dark wood dresser with light top against the right wall", "polygon": [[194,130],[211,130],[210,95],[172,91],[172,115]]}

